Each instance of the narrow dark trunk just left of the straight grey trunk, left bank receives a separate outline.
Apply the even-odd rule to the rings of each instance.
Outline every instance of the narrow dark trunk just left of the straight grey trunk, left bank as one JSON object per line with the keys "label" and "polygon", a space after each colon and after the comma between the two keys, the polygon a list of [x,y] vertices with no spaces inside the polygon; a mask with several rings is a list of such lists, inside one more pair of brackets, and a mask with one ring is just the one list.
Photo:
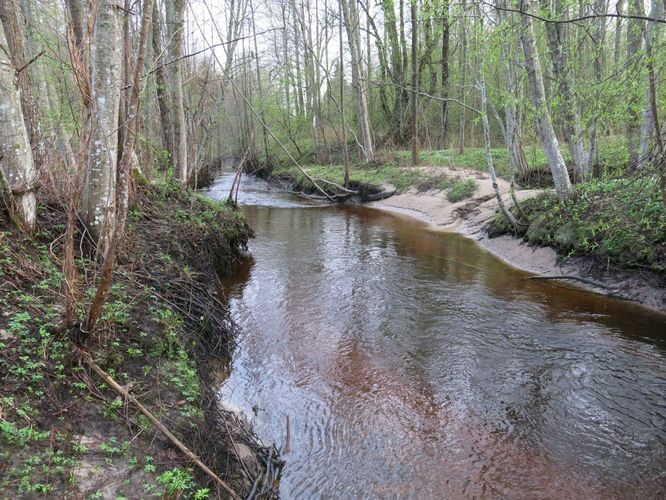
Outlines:
{"label": "narrow dark trunk just left of the straight grey trunk, left bank", "polygon": [[173,145],[173,121],[171,120],[171,98],[169,95],[169,77],[167,75],[167,67],[165,66],[167,58],[164,57],[162,48],[162,16],[157,3],[153,5],[153,54],[155,64],[155,83],[157,93],[157,107],[160,112],[160,136],[162,138],[162,146],[169,154],[169,162],[173,163],[176,157],[176,152]]}

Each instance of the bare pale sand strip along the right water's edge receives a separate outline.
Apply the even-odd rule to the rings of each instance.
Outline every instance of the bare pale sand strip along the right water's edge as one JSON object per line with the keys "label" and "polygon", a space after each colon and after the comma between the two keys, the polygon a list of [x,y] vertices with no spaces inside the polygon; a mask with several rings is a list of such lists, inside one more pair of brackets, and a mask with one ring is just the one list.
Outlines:
{"label": "bare pale sand strip along the right water's edge", "polygon": [[[422,169],[441,167],[421,167]],[[446,170],[446,169],[444,169]],[[588,283],[568,280],[572,286],[604,295],[612,295],[638,302],[646,307],[661,312],[666,311],[666,289],[663,278],[648,271],[622,269],[617,266],[584,257],[563,257],[550,247],[529,245],[521,238],[499,236],[491,238],[487,226],[494,219],[497,200],[494,197],[492,182],[487,174],[472,170],[450,170],[450,176],[468,176],[474,178],[477,189],[471,198],[452,203],[447,200],[445,191],[431,190],[417,192],[416,189],[373,202],[368,206],[380,210],[413,217],[426,222],[432,229],[452,231],[467,236],[507,264],[539,276],[576,276],[605,285],[607,288],[592,286]],[[503,200],[511,205],[508,195],[509,184],[499,181]],[[387,186],[387,189],[391,189]],[[519,190],[519,201],[541,193],[541,190]]]}

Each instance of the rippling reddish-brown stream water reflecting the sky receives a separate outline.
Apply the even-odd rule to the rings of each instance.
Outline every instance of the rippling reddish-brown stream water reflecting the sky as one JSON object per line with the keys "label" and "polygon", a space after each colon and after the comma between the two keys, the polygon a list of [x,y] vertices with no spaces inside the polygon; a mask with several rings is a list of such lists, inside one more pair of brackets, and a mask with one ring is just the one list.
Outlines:
{"label": "rippling reddish-brown stream water reflecting the sky", "polygon": [[666,496],[664,316],[413,220],[240,198],[221,391],[286,448],[283,498]]}

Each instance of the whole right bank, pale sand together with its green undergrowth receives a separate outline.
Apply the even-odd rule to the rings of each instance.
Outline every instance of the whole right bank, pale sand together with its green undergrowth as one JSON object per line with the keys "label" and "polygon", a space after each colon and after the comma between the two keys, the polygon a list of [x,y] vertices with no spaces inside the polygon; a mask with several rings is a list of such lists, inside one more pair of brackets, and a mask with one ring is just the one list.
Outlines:
{"label": "whole right bank, pale sand together with its green undergrowth", "polygon": [[[485,165],[480,161],[477,165]],[[342,183],[340,167],[305,169],[316,179]],[[278,167],[270,175],[289,180],[296,191],[312,192],[295,167]],[[574,276],[568,283],[666,311],[666,210],[655,176],[583,183],[566,205],[553,190],[517,186],[524,213],[513,207],[510,183],[498,179],[505,205],[525,223],[520,234],[498,214],[492,182],[481,167],[388,162],[355,166],[351,179],[376,191],[396,191],[369,206],[459,232],[514,267],[541,276]]]}

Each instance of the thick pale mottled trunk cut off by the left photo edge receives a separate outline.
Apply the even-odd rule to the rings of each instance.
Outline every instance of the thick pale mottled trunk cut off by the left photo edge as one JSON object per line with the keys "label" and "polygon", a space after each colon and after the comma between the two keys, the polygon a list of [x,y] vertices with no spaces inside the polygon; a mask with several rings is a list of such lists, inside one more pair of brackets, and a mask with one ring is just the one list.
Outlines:
{"label": "thick pale mottled trunk cut off by the left photo edge", "polygon": [[16,68],[9,55],[0,23],[0,192],[9,198],[4,202],[19,224],[32,232],[37,218],[37,171],[23,120]]}

